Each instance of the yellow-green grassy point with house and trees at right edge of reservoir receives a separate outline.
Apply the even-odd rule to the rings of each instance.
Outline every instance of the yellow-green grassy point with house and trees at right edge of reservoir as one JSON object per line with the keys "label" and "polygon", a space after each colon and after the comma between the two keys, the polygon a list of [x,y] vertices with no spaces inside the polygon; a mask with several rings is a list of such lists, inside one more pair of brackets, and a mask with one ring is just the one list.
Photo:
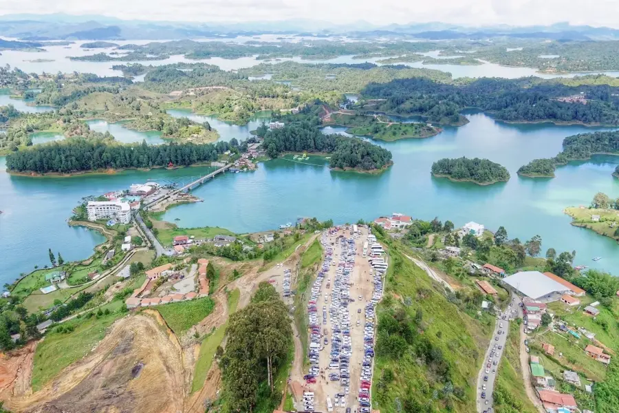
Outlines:
{"label": "yellow-green grassy point with house and trees at right edge of reservoir", "polygon": [[612,200],[605,193],[598,192],[588,208],[567,207],[563,212],[573,218],[572,225],[619,241],[619,198]]}

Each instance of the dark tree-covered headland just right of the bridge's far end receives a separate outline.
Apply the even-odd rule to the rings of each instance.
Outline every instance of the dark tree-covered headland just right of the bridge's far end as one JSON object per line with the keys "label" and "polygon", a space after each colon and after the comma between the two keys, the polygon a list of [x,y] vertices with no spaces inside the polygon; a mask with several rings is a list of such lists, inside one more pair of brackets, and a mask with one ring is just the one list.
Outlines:
{"label": "dark tree-covered headland just right of the bridge's far end", "polygon": [[264,131],[262,143],[268,156],[276,158],[283,152],[330,153],[329,165],[339,169],[362,169],[371,171],[391,165],[391,152],[372,145],[365,140],[345,136],[325,135],[308,122],[287,125],[282,129]]}

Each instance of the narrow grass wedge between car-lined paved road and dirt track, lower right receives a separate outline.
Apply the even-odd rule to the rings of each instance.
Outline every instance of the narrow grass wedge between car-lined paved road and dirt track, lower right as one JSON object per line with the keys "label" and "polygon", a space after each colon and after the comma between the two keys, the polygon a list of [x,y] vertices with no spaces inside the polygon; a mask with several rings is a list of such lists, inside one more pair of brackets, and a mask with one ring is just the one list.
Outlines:
{"label": "narrow grass wedge between car-lined paved road and dirt track, lower right", "polygon": [[[519,346],[520,331],[516,323],[510,324],[506,341],[505,357],[501,359],[495,388],[495,406],[497,412],[537,412],[525,391],[522,370],[520,368]],[[508,410],[508,409],[513,410]]]}

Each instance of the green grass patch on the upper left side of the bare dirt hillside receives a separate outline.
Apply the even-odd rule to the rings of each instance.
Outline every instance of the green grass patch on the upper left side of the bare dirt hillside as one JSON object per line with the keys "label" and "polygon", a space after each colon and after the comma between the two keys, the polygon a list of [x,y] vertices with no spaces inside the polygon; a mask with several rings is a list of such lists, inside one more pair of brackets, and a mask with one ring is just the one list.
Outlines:
{"label": "green grass patch on the upper left side of the bare dirt hillside", "polygon": [[105,337],[105,332],[124,313],[111,313],[89,319],[74,319],[63,326],[75,326],[70,333],[52,331],[36,346],[32,366],[32,390],[40,390],[45,383],[75,361],[82,359]]}

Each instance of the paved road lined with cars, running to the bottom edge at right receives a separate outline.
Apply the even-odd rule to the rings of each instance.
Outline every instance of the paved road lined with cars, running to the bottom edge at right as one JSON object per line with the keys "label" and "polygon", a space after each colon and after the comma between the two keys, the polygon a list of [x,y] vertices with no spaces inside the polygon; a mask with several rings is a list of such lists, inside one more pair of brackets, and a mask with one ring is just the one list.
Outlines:
{"label": "paved road lined with cars, running to the bottom edge at right", "polygon": [[[512,301],[514,304],[508,310],[501,312],[495,324],[495,330],[492,332],[492,339],[488,344],[488,350],[484,356],[484,363],[481,365],[481,370],[477,374],[477,412],[488,412],[492,408],[492,392],[495,390],[495,380],[497,379],[497,370],[501,363],[501,357],[505,351],[505,343],[507,341],[507,333],[510,330],[509,313],[513,306],[517,306],[517,301]],[[503,320],[501,317],[505,315]],[[501,334],[499,334],[499,331]],[[500,348],[499,348],[500,347]],[[490,357],[492,351],[494,356]],[[490,367],[488,368],[488,363]],[[496,363],[496,364],[495,364]],[[484,380],[487,378],[486,380]],[[485,387],[485,389],[484,389]],[[485,394],[484,394],[485,393]],[[485,396],[482,396],[482,394]],[[486,404],[488,403],[488,404]]]}

